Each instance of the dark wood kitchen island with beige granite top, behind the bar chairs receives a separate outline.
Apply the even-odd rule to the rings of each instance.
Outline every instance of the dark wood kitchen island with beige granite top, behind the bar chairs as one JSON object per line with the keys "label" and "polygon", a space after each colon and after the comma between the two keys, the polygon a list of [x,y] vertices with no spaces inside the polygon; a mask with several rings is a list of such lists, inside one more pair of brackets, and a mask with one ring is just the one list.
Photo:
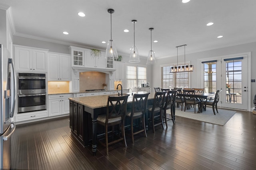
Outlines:
{"label": "dark wood kitchen island with beige granite top, behind the bar chairs", "polygon": [[[145,94],[146,92],[137,93]],[[128,94],[130,96],[127,108],[132,106],[132,93]],[[108,96],[110,95],[69,98],[71,132],[84,147],[92,144],[94,155],[97,150],[97,117],[106,113]],[[148,101],[153,99],[154,93],[149,94]]]}

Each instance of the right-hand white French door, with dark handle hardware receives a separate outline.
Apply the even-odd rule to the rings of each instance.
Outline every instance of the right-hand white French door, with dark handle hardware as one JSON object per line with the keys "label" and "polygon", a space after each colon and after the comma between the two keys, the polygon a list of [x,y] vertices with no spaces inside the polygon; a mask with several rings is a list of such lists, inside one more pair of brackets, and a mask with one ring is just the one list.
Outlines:
{"label": "right-hand white French door, with dark handle hardware", "polygon": [[221,58],[221,107],[248,110],[248,55]]}

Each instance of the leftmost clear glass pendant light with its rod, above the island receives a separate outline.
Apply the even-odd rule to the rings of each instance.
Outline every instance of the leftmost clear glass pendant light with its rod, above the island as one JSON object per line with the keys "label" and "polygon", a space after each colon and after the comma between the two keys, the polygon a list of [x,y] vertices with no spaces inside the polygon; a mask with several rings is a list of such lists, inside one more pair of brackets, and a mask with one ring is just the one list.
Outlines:
{"label": "leftmost clear glass pendant light with its rod, above the island", "polygon": [[107,45],[107,49],[106,49],[105,58],[107,60],[118,59],[116,47],[115,47],[113,39],[112,39],[112,14],[114,12],[115,11],[113,9],[108,9],[108,13],[110,13],[110,40],[108,41],[108,45]]}

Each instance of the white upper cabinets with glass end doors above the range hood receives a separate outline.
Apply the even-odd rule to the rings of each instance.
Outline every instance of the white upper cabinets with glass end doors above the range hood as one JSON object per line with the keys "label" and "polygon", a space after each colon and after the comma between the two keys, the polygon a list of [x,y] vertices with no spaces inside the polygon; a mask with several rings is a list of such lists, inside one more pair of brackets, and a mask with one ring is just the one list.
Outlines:
{"label": "white upper cabinets with glass end doors above the range hood", "polygon": [[69,47],[72,67],[77,69],[90,70],[110,70],[114,71],[114,59],[105,59],[105,52],[100,51],[100,55],[93,55],[91,49],[83,49],[79,47]]}

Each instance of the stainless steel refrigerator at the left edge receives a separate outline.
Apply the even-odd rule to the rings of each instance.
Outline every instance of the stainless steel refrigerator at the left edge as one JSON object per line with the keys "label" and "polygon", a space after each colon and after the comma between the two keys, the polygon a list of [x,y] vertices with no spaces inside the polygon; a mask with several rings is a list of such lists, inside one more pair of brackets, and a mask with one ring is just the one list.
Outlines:
{"label": "stainless steel refrigerator at the left edge", "polygon": [[11,118],[14,114],[16,79],[12,59],[3,55],[0,44],[0,169],[10,169],[11,166],[11,135],[16,128]]}

